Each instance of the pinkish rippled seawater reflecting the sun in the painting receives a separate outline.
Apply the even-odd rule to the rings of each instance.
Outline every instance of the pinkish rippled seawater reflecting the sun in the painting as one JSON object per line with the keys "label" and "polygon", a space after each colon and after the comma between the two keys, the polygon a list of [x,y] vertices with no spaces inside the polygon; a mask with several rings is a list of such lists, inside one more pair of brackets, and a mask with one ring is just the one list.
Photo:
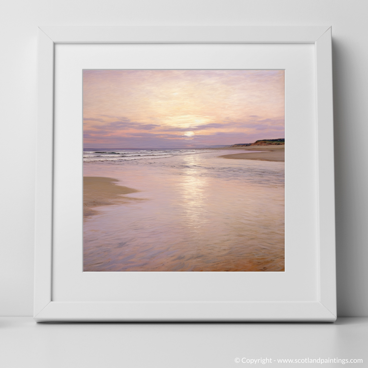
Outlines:
{"label": "pinkish rippled seawater reflecting the sun in the painting", "polygon": [[84,220],[84,271],[283,271],[284,163],[218,157],[243,152],[85,149],[138,192]]}

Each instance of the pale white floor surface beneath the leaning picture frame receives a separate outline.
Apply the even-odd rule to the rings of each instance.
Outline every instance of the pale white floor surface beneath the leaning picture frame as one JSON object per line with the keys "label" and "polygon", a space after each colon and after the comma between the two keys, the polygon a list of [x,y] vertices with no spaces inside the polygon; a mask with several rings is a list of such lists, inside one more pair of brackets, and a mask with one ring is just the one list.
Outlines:
{"label": "pale white floor surface beneath the leaning picture frame", "polygon": [[[240,362],[236,362],[239,358]],[[243,359],[244,358],[244,359]],[[277,359],[362,359],[368,367],[368,317],[335,323],[35,323],[0,317],[1,368],[342,367]],[[241,360],[243,359],[243,362]]]}

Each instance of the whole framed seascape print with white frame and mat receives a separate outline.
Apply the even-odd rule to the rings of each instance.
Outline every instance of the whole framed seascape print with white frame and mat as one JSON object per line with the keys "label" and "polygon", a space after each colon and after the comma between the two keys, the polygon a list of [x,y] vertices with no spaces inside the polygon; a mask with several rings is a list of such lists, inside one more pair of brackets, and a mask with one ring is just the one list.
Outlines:
{"label": "whole framed seascape print with white frame and mat", "polygon": [[37,322],[335,321],[329,27],[40,27],[38,81]]}

